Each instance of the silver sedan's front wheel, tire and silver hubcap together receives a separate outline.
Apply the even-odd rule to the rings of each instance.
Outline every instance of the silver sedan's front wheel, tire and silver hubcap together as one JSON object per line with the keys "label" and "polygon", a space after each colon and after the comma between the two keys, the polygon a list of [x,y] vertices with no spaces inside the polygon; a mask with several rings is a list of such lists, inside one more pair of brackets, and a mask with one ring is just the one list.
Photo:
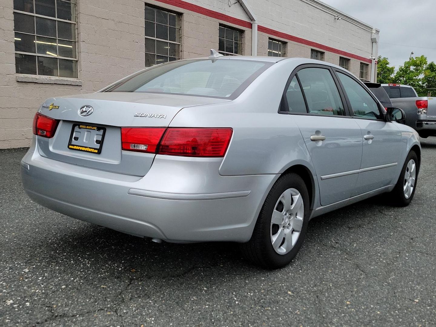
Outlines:
{"label": "silver sedan's front wheel, tire and silver hubcap together", "polygon": [[397,184],[395,184],[395,188],[391,192],[393,205],[405,207],[410,204],[415,194],[418,172],[418,157],[414,151],[410,151],[404,162]]}

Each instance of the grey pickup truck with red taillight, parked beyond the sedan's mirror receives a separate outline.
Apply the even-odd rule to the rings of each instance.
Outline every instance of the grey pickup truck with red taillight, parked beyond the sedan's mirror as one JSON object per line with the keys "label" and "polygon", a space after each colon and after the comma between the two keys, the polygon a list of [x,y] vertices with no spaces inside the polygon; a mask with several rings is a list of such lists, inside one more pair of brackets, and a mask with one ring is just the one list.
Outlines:
{"label": "grey pickup truck with red taillight, parked beyond the sedan's mirror", "polygon": [[406,114],[405,124],[426,138],[436,136],[436,98],[419,97],[410,85],[381,84],[391,99],[392,106]]}

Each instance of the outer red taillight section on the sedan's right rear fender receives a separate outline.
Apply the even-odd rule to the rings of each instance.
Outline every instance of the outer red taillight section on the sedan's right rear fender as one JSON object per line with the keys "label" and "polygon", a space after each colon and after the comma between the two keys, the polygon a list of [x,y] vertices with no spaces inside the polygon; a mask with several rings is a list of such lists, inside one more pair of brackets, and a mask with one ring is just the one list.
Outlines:
{"label": "outer red taillight section on the sedan's right rear fender", "polygon": [[158,153],[186,157],[224,157],[232,132],[231,128],[169,128]]}

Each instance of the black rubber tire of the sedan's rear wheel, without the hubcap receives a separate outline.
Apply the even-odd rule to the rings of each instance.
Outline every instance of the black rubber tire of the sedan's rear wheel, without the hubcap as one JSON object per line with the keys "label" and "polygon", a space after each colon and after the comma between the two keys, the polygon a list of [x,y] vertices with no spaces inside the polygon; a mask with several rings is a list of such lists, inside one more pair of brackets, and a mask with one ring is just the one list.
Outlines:
{"label": "black rubber tire of the sedan's rear wheel, without the hubcap", "polygon": [[[303,226],[301,228],[300,236],[293,248],[290,252],[282,255],[277,253],[272,247],[270,228],[272,211],[275,209],[274,206],[277,201],[279,201],[279,197],[283,192],[289,188],[294,188],[299,191],[303,198]],[[259,217],[257,218],[251,239],[249,242],[241,244],[242,254],[245,259],[251,261],[256,266],[261,266],[266,269],[276,269],[286,266],[292,261],[292,259],[294,259],[303,244],[309,216],[309,194],[303,179],[295,173],[279,177],[266,197],[265,203],[263,204]]]}

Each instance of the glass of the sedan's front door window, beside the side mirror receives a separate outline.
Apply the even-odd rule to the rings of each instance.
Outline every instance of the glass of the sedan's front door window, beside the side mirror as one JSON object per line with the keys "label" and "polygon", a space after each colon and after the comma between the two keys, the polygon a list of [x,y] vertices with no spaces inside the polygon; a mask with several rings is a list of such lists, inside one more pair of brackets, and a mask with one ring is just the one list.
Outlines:
{"label": "glass of the sedan's front door window, beside the side mirror", "polygon": [[358,82],[340,72],[337,73],[337,76],[344,86],[345,93],[347,93],[354,116],[365,119],[382,119],[377,102]]}

